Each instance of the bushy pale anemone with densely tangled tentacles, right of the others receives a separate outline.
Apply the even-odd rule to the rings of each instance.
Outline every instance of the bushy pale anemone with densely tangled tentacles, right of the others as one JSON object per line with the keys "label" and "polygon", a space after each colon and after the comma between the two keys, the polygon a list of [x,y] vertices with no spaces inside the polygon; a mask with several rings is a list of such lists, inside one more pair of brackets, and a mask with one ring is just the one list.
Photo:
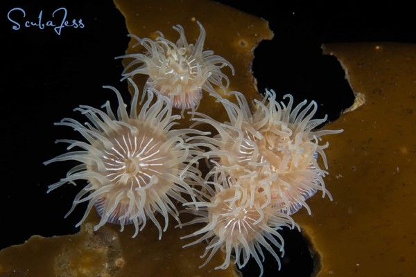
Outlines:
{"label": "bushy pale anemone with densely tangled tentacles, right of the others", "polygon": [[276,175],[270,183],[271,197],[284,200],[282,208],[286,208],[288,215],[302,206],[311,213],[305,200],[317,190],[331,199],[323,180],[327,172],[317,161],[320,156],[327,168],[324,149],[329,144],[321,145],[320,141],[322,136],[342,130],[315,130],[327,120],[327,116],[313,119],[316,102],[306,106],[304,100],[293,107],[291,95],[284,96],[289,99],[287,104],[279,103],[275,92],[266,90],[263,100],[254,100],[252,111],[242,93],[234,91],[229,95],[235,96],[237,104],[219,98],[229,116],[227,123],[218,123],[205,114],[193,112],[196,124],[208,123],[218,131],[213,138],[194,138],[209,149],[205,157],[217,161],[211,174],[223,171],[218,168],[227,168],[234,176],[247,175],[248,171],[261,172],[264,178]]}

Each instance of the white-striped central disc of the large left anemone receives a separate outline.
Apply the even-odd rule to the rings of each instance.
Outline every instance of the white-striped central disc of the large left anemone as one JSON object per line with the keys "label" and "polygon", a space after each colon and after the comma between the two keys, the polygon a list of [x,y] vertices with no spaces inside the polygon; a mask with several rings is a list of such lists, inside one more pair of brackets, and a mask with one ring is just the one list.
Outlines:
{"label": "white-striped central disc of the large left anemone", "polygon": [[[141,124],[135,124],[130,128],[121,126],[119,132],[108,136],[111,147],[101,145],[94,149],[101,153],[97,158],[101,159],[103,168],[96,163],[88,167],[106,177],[116,188],[136,190],[148,186],[152,178],[163,180],[164,175],[173,174],[173,168],[166,166],[166,162],[175,159],[175,150],[162,148],[166,136],[155,135],[151,128],[145,130]],[[163,193],[166,193],[171,186],[168,186],[169,182],[162,183]]]}

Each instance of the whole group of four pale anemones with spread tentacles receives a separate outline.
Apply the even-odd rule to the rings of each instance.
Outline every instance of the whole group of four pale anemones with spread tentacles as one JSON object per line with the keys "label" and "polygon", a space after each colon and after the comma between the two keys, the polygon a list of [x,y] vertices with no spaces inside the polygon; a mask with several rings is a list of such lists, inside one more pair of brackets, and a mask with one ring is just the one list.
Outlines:
{"label": "whole group of four pale anemones with spread tentacles", "polygon": [[[229,66],[233,74],[234,69],[213,51],[203,51],[205,30],[198,25],[200,36],[195,45],[188,44],[182,26],[173,27],[180,33],[176,44],[162,33],[155,41],[133,36],[146,52],[123,56],[133,58],[123,72],[123,79],[135,88],[130,113],[119,91],[107,87],[119,101],[116,115],[106,102],[105,111],[88,106],[76,109],[89,119],[85,125],[70,118],[56,123],[72,127],[87,142],[62,140],[70,144],[69,150],[82,150],[46,164],[76,160],[80,165],[48,191],[87,180],[69,213],[77,204],[88,202],[81,224],[95,206],[101,215],[95,229],[106,222],[121,225],[121,230],[134,224],[135,237],[151,220],[160,239],[169,215],[179,226],[204,224],[185,237],[197,237],[185,247],[207,242],[201,267],[221,250],[226,258],[216,269],[227,268],[232,256],[240,268],[253,257],[261,275],[263,249],[277,262],[276,252],[284,253],[278,231],[284,226],[297,227],[291,215],[302,206],[311,213],[306,199],[318,190],[331,197],[323,180],[327,172],[318,163],[320,157],[327,168],[324,149],[328,144],[320,141],[326,134],[341,131],[315,131],[326,121],[313,118],[315,102],[306,105],[305,100],[293,107],[292,96],[284,96],[287,102],[277,102],[271,90],[262,100],[249,103],[242,93],[227,92],[229,80],[220,69]],[[135,74],[148,75],[140,104],[139,89],[131,79]],[[223,98],[213,84],[235,101]],[[225,122],[198,112],[202,91],[222,103],[228,115]],[[182,116],[191,109],[191,127],[175,129],[182,117],[175,114],[175,108]],[[216,134],[198,131],[202,124],[214,127]],[[208,165],[203,175],[201,165]],[[184,206],[182,211],[195,215],[194,219],[181,223],[177,203]],[[156,214],[164,217],[163,228]]]}

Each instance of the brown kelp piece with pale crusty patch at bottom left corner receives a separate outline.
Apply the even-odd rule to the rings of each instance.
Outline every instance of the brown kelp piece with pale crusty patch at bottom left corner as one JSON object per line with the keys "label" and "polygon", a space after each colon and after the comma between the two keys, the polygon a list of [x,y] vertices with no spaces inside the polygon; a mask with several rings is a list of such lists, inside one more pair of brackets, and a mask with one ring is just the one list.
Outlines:
{"label": "brown kelp piece with pale crusty patch at bottom left corner", "polygon": [[222,253],[199,269],[205,244],[182,248],[191,240],[181,240],[196,228],[179,229],[170,224],[162,240],[151,224],[132,238],[134,228],[123,232],[105,224],[93,231],[98,215],[91,213],[75,235],[31,237],[25,244],[0,251],[0,276],[238,276],[235,267],[214,270],[223,263]]}

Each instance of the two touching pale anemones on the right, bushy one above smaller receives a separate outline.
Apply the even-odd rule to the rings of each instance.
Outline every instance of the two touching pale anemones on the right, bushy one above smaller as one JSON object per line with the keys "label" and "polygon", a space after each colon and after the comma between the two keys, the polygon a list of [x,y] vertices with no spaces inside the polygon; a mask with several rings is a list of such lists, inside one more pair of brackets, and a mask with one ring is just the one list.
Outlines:
{"label": "two touching pale anemones on the right, bushy one above smaller", "polygon": [[190,139],[207,149],[202,155],[211,162],[211,169],[205,181],[214,186],[214,192],[206,202],[190,206],[194,207],[190,213],[200,217],[193,222],[206,222],[207,226],[189,237],[205,233],[196,240],[200,242],[214,236],[207,247],[207,252],[211,251],[207,261],[220,248],[227,254],[217,269],[226,268],[232,254],[239,267],[253,256],[262,274],[259,244],[277,258],[270,243],[283,251],[283,240],[276,230],[281,226],[295,228],[290,215],[302,206],[311,213],[305,201],[317,190],[329,195],[323,181],[327,172],[317,162],[319,154],[327,165],[324,149],[328,145],[319,142],[321,136],[341,131],[313,131],[326,120],[312,119],[315,102],[304,107],[304,101],[293,107],[292,96],[284,96],[289,98],[284,104],[275,100],[274,91],[266,91],[263,100],[254,100],[252,111],[242,93],[229,94],[235,96],[237,104],[220,99],[228,122],[193,113],[197,124],[209,124],[218,134]]}

